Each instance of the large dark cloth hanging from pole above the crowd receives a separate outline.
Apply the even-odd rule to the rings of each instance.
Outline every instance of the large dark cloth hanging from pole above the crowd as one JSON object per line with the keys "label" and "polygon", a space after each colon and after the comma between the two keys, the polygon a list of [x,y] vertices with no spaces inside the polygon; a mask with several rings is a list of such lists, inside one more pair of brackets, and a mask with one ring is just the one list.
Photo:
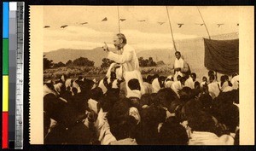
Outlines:
{"label": "large dark cloth hanging from pole above the crowd", "polygon": [[205,67],[231,75],[239,71],[239,39],[211,40],[204,38]]}

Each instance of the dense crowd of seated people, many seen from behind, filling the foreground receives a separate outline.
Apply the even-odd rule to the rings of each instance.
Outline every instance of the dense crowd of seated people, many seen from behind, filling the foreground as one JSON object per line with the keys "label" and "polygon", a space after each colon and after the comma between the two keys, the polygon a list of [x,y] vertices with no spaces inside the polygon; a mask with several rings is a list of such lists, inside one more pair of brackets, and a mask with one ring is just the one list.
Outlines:
{"label": "dense crowd of seated people, many seen from behind, filling the foreground", "polygon": [[44,83],[44,143],[238,145],[239,75],[209,71]]}

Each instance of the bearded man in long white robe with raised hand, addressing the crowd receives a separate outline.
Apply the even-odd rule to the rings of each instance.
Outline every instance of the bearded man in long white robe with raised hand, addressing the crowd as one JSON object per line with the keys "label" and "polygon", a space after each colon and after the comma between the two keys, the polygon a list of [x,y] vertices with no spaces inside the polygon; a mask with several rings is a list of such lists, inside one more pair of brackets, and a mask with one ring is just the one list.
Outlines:
{"label": "bearded man in long white robe with raised hand, addressing the crowd", "polygon": [[[102,47],[108,53],[108,59],[121,65],[124,78],[128,79],[128,75],[129,78],[131,78],[131,75],[134,75],[134,78],[139,80],[142,93],[144,94],[143,77],[140,72],[139,61],[135,49],[127,44],[125,35],[122,33],[118,33],[113,37],[113,45],[118,50],[117,54],[109,51],[107,46]],[[128,80],[126,79],[125,81],[127,83]]]}

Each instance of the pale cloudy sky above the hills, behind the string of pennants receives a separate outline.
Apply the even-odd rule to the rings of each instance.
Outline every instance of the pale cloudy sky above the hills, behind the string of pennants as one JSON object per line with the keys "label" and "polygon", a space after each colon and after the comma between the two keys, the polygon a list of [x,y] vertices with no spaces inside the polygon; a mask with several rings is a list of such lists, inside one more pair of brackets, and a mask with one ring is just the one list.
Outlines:
{"label": "pale cloudy sky above the hills, behind the string of pennants", "polygon": [[[118,17],[119,9],[119,17]],[[238,6],[168,6],[174,40],[238,32]],[[201,11],[199,14],[198,9]],[[105,17],[107,21],[102,21]],[[119,21],[125,19],[125,21]],[[145,20],[145,21],[138,21]],[[94,49],[104,42],[113,47],[113,36],[125,34],[137,51],[173,49],[166,6],[44,6],[44,52],[56,49]],[[81,25],[80,23],[88,22]],[[160,25],[158,22],[165,22]],[[183,24],[178,27],[177,24]],[[217,24],[224,24],[219,26]],[[61,28],[63,25],[68,25]]]}

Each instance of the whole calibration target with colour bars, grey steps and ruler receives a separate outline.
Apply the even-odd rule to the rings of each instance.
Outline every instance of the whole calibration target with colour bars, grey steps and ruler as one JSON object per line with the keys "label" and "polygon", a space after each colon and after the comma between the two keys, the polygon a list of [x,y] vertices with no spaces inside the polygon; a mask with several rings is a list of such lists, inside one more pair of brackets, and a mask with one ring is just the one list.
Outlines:
{"label": "whole calibration target with colour bars, grey steps and ruler", "polygon": [[2,148],[23,148],[24,4],[3,2]]}

